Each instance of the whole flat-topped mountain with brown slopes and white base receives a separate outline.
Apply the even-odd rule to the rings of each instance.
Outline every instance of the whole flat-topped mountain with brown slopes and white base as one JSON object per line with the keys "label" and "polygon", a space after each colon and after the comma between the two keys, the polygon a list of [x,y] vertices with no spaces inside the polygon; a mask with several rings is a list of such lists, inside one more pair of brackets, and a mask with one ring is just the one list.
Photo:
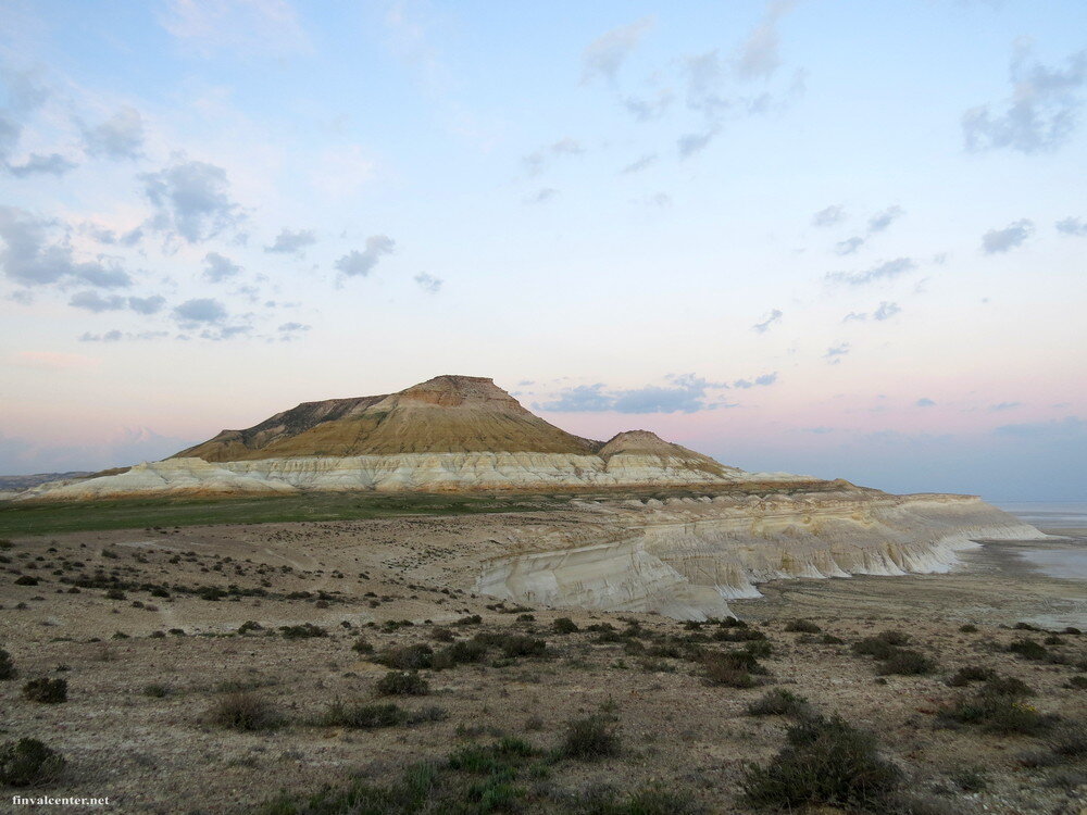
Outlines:
{"label": "whole flat-topped mountain with brown slopes and white base", "polygon": [[242,430],[120,474],[58,481],[18,499],[298,490],[666,488],[817,479],[747,473],[626,430],[584,439],[526,410],[492,379],[436,376],[396,393],[303,402]]}

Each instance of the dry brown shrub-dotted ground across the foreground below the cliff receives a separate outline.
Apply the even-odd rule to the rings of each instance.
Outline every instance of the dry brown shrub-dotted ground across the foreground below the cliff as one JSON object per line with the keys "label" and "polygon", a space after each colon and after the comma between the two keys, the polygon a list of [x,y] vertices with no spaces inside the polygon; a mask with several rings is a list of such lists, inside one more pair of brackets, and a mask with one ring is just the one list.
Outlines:
{"label": "dry brown shrub-dotted ground across the foreground below the cliff", "polygon": [[[473,595],[464,548],[500,551],[502,518],[11,536],[0,647],[17,675],[0,681],[0,739],[66,764],[4,794],[109,797],[125,813],[253,812],[282,790],[268,812],[755,812],[749,765],[797,716],[749,705],[785,690],[875,732],[898,778],[869,811],[1087,806],[1087,636],[1014,627],[1074,625],[1084,584],[1025,565],[1015,543],[949,575],[764,585],[732,603],[745,628]],[[994,675],[1027,690],[975,716]],[[66,680],[67,701],[28,699],[40,677]],[[433,777],[412,788],[421,763]],[[302,806],[352,783],[386,808]]]}

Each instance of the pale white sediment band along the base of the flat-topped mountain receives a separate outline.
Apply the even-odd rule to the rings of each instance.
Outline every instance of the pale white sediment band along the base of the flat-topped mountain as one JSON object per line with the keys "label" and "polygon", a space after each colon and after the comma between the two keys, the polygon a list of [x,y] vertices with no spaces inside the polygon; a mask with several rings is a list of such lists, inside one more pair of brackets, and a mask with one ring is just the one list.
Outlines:
{"label": "pale white sediment band along the base of the flat-topped mountain", "polygon": [[166,459],[138,464],[121,475],[43,484],[17,498],[82,500],[184,492],[653,487],[746,480],[816,479],[785,473],[746,473],[730,467],[717,475],[691,467],[684,459],[638,453],[620,453],[608,459],[566,453],[401,453],[216,463]]}

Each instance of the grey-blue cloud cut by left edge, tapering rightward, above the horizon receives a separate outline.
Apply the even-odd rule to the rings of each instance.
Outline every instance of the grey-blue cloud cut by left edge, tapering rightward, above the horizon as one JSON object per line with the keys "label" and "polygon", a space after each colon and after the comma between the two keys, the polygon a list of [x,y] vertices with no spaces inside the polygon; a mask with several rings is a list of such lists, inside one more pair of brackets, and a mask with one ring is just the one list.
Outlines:
{"label": "grey-blue cloud cut by left edge, tapering rightward, above the horizon", "polygon": [[[50,233],[62,228],[59,241]],[[0,269],[20,286],[82,281],[103,288],[124,288],[132,285],[128,273],[115,262],[79,262],[67,243],[67,227],[54,221],[30,215],[15,206],[0,205]]]}

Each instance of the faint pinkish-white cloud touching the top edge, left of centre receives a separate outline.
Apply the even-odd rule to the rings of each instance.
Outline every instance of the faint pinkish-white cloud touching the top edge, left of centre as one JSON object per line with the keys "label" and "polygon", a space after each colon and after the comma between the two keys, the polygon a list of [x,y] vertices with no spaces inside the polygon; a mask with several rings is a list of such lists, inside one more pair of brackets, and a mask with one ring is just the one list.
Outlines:
{"label": "faint pinkish-white cloud touching the top edge, left of centre", "polygon": [[286,0],[168,0],[160,23],[201,57],[285,57],[313,50]]}

